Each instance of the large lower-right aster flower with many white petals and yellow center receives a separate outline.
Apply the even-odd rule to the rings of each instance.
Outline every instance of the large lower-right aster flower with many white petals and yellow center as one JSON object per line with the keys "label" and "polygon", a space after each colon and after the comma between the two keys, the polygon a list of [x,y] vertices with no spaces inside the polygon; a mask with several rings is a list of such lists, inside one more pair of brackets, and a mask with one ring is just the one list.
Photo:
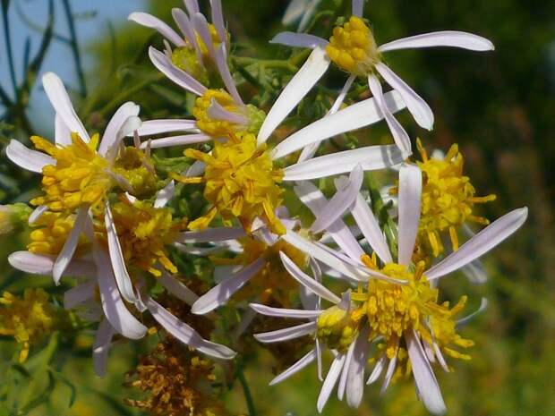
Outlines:
{"label": "large lower-right aster flower with many white petals and yellow center", "polygon": [[[331,224],[329,229],[335,234],[335,241],[341,251],[310,242],[290,230],[282,237],[297,249],[310,252],[312,258],[334,269],[347,281],[358,282],[358,289],[351,293],[350,308],[333,306],[320,312],[319,318],[305,324],[306,327],[296,327],[295,330],[289,328],[293,334],[304,331],[303,335],[316,330],[321,341],[325,341],[329,348],[337,350],[337,356],[320,392],[319,410],[328,400],[337,381],[339,397],[346,393],[347,402],[351,406],[360,404],[369,350],[372,343],[380,343],[384,348],[378,350],[375,356],[376,365],[368,384],[375,382],[385,369],[386,376],[382,386],[382,390],[385,390],[399,363],[408,360],[418,395],[424,405],[434,414],[445,412],[445,403],[431,369],[431,362],[439,362],[441,367],[448,370],[444,354],[466,358],[465,354],[457,352],[453,347],[466,348],[472,342],[457,335],[457,321],[453,318],[464,307],[465,297],[449,310],[445,304],[437,303],[435,282],[478,259],[515,233],[525,222],[527,209],[516,209],[477,233],[446,259],[425,270],[423,262],[416,265],[412,263],[420,219],[422,174],[416,166],[404,165],[399,176],[397,253],[389,251],[377,219],[357,189],[358,184],[349,187],[354,180],[346,178],[339,178],[336,182],[338,192],[344,191],[339,193],[341,200],[354,200],[348,211],[377,257],[370,258],[364,254],[362,247],[355,249],[351,244],[354,236],[348,242],[337,238],[337,230],[344,230],[343,233],[346,233],[341,220],[344,212],[338,212],[337,200],[332,199],[327,206],[323,205],[319,193],[310,187],[304,189],[303,199],[310,202],[307,204],[310,208],[320,206],[321,214],[317,216],[317,221],[320,224]],[[334,209],[327,209],[329,207]],[[363,254],[359,257],[360,252]],[[289,264],[288,271],[314,293],[337,304],[337,296],[331,297],[329,293],[324,293],[320,285],[315,284],[309,276],[300,275],[299,269]],[[388,301],[385,301],[386,297]],[[485,304],[482,302],[481,310],[483,307]],[[284,316],[290,318],[295,314],[298,315],[298,312],[291,312],[289,315],[284,312]],[[466,321],[465,318],[462,323]],[[258,335],[258,338],[268,342],[272,339],[280,340],[280,335],[282,334]],[[310,356],[312,360],[313,355]],[[301,364],[304,363],[302,361]],[[299,366],[303,367],[301,364]]]}

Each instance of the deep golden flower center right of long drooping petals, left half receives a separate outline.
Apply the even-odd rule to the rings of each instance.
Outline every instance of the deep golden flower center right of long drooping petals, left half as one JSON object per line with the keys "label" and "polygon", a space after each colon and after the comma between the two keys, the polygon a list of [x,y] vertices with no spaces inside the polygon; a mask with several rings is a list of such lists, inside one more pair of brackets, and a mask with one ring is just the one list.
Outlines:
{"label": "deep golden flower center right of long drooping petals, left half", "polygon": [[[175,242],[185,228],[186,219],[174,222],[169,208],[154,208],[148,202],[128,200],[112,207],[115,229],[122,246],[125,262],[153,276],[161,276],[160,266],[177,273],[177,267],[167,257],[166,245]],[[99,233],[104,227],[100,226]]]}

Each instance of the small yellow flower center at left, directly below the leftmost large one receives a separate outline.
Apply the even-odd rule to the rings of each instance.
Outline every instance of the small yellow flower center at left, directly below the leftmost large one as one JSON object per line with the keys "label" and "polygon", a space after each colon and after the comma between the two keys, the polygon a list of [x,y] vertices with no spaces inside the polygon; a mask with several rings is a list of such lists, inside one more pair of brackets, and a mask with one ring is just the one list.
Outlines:
{"label": "small yellow flower center at left, directly below the leftmost large one", "polygon": [[[33,224],[33,227],[36,228],[30,233],[27,250],[35,254],[58,255],[73,229],[73,223],[74,216],[72,215],[65,216],[59,212],[45,212]],[[81,234],[77,253],[81,252],[81,248],[86,243],[86,238]]]}

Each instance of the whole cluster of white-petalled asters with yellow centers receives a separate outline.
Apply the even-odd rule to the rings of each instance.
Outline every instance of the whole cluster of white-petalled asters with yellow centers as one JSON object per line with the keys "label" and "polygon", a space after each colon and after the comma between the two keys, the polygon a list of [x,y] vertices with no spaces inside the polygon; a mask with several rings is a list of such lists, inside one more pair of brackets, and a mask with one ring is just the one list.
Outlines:
{"label": "whole cluster of white-petalled asters with yellow centers", "polygon": [[[184,4],[186,12],[172,11],[179,32],[147,13],[129,19],[164,38],[164,50],[149,47],[149,59],[194,98],[191,118],[142,120],[140,107],[128,102],[104,132],[90,134],[62,81],[43,76],[55,140],[33,136],[35,149],[18,140],[6,149],[14,164],[41,176],[29,207],[0,210],[2,233],[18,222],[30,231],[27,250],[12,253],[10,264],[69,284],[64,307],[97,328],[92,354],[100,376],[115,336],[164,338],[129,374],[129,386],[149,397],[127,403],[151,414],[226,414],[212,400],[209,358],[234,360],[250,348],[240,341],[251,335],[269,349],[285,343],[287,359],[298,358],[271,384],[316,361],[319,412],[336,388],[339,400],[358,407],[364,384],[383,376],[384,391],[402,375],[412,375],[431,413],[446,412],[433,367],[449,372],[449,360],[470,359],[474,343],[462,324],[486,301],[461,317],[467,297],[445,299],[441,279],[462,269],[483,280],[478,259],[515,233],[527,210],[489,224],[479,205],[495,196],[477,196],[457,145],[429,157],[415,140],[420,157],[413,157],[413,140],[394,114],[406,109],[432,130],[433,113],[385,57],[406,48],[487,51],[491,42],[440,31],[379,46],[363,0],[353,0],[352,16],[337,21],[329,39],[296,32],[272,39],[311,51],[268,107],[251,99],[230,65],[233,37],[220,0],[209,2],[211,22],[196,0]],[[325,115],[291,128],[289,115],[310,103],[332,64],[346,74],[345,86]],[[371,98],[353,98],[354,85],[367,86]],[[388,126],[390,144],[329,146],[374,123]],[[160,148],[182,149],[186,168],[160,169]],[[380,194],[372,171],[383,171],[387,192]],[[324,192],[321,183],[335,190]],[[180,208],[192,195],[200,208]],[[474,233],[472,225],[487,226]],[[201,258],[210,276],[190,267]],[[24,344],[22,359],[53,325],[41,293],[0,300],[9,310],[5,317],[0,310],[2,334]],[[324,377],[325,356],[331,366]]]}

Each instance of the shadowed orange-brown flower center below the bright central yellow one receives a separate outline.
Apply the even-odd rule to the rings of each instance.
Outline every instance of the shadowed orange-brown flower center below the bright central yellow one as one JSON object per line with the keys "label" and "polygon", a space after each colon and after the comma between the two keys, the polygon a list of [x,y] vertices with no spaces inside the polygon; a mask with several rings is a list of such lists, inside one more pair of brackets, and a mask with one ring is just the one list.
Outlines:
{"label": "shadowed orange-brown flower center below the bright central yellow one", "polygon": [[279,252],[283,251],[298,267],[303,268],[307,262],[303,251],[281,239],[270,246],[252,237],[244,237],[239,242],[243,246],[243,252],[235,259],[213,258],[212,260],[220,265],[248,266],[254,260],[263,257],[265,264],[236,294],[235,299],[237,301],[259,299],[261,303],[291,307],[293,296],[298,292],[298,284],[283,266]]}

